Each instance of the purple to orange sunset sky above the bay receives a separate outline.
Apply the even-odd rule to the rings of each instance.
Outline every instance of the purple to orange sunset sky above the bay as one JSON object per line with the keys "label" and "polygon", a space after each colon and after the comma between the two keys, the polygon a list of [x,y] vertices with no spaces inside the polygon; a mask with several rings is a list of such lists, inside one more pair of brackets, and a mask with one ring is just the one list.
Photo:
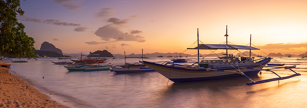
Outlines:
{"label": "purple to orange sunset sky above the bay", "polygon": [[251,36],[255,54],[307,51],[307,0],[21,0],[20,7],[18,22],[38,50],[46,41],[68,54],[195,54],[186,49],[197,46],[197,28],[202,43],[219,44],[227,25],[228,42],[249,45]]}

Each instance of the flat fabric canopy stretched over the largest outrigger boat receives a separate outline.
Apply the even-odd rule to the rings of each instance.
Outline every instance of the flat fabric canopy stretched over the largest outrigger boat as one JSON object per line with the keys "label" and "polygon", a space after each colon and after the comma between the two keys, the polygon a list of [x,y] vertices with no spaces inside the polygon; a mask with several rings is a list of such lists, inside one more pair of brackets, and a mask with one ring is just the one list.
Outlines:
{"label": "flat fabric canopy stretched over the largest outrigger boat", "polygon": [[[197,50],[198,48],[195,47],[195,48],[187,48],[187,49],[196,49]],[[226,45],[226,44],[199,44],[199,49],[201,49],[201,50],[217,50],[217,49],[224,49],[224,50],[238,50],[238,49],[259,50],[258,48],[250,47],[250,46]]]}

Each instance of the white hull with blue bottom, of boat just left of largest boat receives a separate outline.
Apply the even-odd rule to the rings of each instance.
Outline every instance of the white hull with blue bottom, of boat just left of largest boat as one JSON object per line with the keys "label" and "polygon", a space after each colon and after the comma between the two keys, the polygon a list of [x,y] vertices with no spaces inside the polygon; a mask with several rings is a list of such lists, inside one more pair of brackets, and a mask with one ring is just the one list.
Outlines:
{"label": "white hull with blue bottom, of boat just left of largest boat", "polygon": [[142,67],[142,66],[131,66],[127,67],[113,67],[110,66],[115,73],[134,73],[134,72],[147,72],[147,71],[154,71],[149,67]]}

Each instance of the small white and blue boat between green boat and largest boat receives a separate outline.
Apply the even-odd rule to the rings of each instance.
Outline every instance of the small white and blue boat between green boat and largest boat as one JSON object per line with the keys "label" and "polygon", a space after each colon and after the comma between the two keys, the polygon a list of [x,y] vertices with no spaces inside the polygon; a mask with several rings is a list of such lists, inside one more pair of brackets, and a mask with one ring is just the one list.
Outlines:
{"label": "small white and blue boat between green boat and largest boat", "polygon": [[132,73],[132,72],[147,72],[147,71],[154,71],[150,67],[140,64],[140,63],[134,63],[129,64],[125,63],[125,65],[115,65],[110,66],[115,73]]}

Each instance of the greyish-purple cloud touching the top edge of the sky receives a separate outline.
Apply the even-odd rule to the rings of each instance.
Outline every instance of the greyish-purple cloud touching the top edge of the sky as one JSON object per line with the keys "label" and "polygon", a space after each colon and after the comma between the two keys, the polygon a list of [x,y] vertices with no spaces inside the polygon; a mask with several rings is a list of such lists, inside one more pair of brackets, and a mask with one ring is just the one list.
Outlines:
{"label": "greyish-purple cloud touching the top edge of the sky", "polygon": [[75,10],[85,8],[84,6],[76,5],[77,2],[81,2],[81,0],[53,0],[56,5],[60,5],[68,10]]}

